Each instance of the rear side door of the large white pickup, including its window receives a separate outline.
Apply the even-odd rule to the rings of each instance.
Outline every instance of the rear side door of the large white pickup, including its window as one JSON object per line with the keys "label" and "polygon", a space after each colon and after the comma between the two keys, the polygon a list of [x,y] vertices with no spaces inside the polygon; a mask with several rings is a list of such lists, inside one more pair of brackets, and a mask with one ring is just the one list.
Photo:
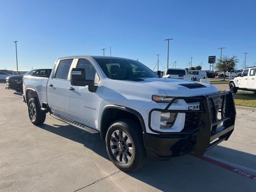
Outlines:
{"label": "rear side door of the large white pickup, including its window", "polygon": [[67,87],[70,80],[70,68],[74,58],[58,60],[55,70],[48,80],[47,102],[55,114],[66,116]]}

